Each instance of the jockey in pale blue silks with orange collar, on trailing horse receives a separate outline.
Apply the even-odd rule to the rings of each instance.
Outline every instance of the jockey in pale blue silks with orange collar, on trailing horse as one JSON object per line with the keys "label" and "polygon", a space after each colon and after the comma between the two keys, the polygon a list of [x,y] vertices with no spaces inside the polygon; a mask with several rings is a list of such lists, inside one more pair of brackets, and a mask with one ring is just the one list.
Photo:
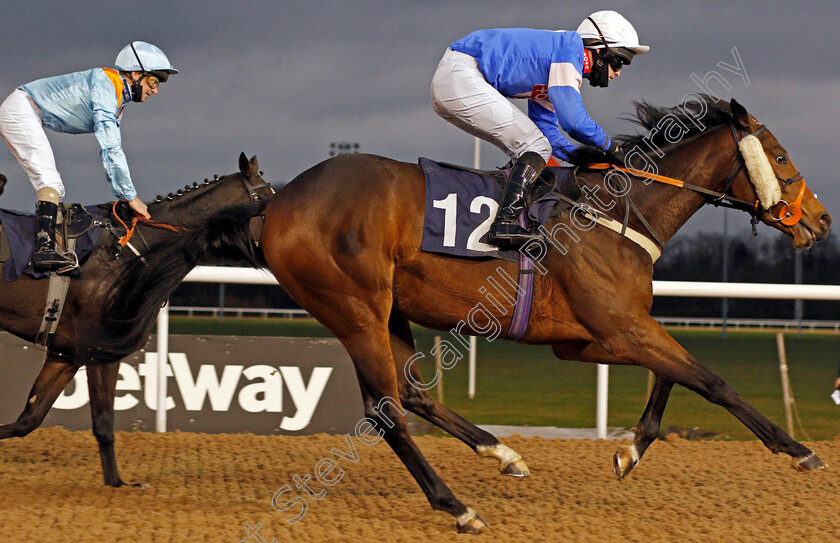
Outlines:
{"label": "jockey in pale blue silks with orange collar, on trailing horse", "polygon": [[37,193],[38,240],[32,256],[36,271],[58,270],[74,263],[55,249],[55,222],[64,184],[44,127],[69,134],[95,134],[114,195],[127,200],[138,215],[149,218],[122,150],[120,116],[126,103],[145,102],[178,70],[163,51],[142,41],[125,46],[114,65],[116,70],[94,68],[21,85],[0,105],[0,136]]}

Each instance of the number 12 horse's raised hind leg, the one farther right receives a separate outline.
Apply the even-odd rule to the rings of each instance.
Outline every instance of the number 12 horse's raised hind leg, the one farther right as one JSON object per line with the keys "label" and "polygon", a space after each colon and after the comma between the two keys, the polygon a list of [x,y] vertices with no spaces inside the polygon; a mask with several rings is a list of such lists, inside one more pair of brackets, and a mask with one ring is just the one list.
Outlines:
{"label": "number 12 horse's raised hind leg, the one farther right", "polygon": [[399,382],[400,402],[406,409],[431,422],[438,428],[466,443],[479,456],[492,457],[499,462],[499,471],[505,475],[527,477],[528,466],[522,457],[507,445],[503,445],[493,434],[467,421],[439,401],[429,391],[414,386],[406,377],[411,375],[414,383],[424,383],[417,364],[407,364],[415,354],[414,338],[408,319],[392,312],[388,322],[391,334],[391,352],[396,364]]}

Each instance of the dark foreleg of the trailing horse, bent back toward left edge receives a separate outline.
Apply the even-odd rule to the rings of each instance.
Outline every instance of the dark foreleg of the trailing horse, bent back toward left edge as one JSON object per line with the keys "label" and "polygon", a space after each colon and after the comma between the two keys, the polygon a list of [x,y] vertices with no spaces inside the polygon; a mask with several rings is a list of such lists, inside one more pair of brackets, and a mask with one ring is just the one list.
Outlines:
{"label": "dark foreleg of the trailing horse, bent back toward left edge", "polygon": [[29,391],[23,413],[15,422],[0,426],[0,439],[23,437],[39,427],[78,369],[79,366],[68,362],[66,358],[53,357],[47,353],[44,366]]}

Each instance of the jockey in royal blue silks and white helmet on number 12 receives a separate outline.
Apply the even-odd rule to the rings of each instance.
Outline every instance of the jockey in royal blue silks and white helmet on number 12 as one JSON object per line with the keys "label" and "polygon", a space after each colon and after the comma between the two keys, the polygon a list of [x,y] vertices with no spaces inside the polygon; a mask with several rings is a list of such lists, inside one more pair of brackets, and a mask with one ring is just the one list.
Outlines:
{"label": "jockey in royal blue silks and white helmet on number 12", "polygon": [[[490,243],[507,249],[540,239],[520,227],[517,218],[548,159],[554,155],[566,160],[577,148],[559,128],[614,160],[623,159],[618,145],[584,109],[580,85],[587,78],[593,87],[606,87],[648,49],[639,45],[627,19],[614,11],[593,13],[576,32],[479,30],[449,47],[432,79],[435,111],[514,161]],[[527,98],[528,114],[508,98]]]}

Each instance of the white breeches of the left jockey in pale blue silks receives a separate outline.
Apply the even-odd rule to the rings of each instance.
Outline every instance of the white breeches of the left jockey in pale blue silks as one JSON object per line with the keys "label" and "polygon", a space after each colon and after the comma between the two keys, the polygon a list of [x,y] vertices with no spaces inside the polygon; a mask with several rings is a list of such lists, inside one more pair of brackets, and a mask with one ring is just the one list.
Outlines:
{"label": "white breeches of the left jockey in pale blue silks", "polygon": [[41,122],[41,109],[17,89],[0,105],[0,137],[9,146],[35,191],[52,188],[64,197],[64,183]]}

